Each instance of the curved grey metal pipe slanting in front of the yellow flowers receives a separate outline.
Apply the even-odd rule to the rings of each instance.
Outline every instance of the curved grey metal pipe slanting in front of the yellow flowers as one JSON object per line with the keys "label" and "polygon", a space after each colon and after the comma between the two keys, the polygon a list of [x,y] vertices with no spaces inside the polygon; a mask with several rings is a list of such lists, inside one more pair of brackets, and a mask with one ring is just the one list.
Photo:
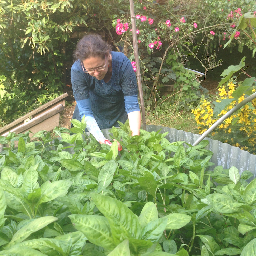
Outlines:
{"label": "curved grey metal pipe slanting in front of the yellow flowers", "polygon": [[207,131],[205,131],[193,144],[192,146],[196,146],[199,142],[201,142],[209,133],[211,133],[218,125],[220,125],[224,120],[226,120],[229,116],[231,116],[234,112],[242,108],[242,106],[246,105],[248,102],[256,98],[256,92],[252,95],[248,96],[246,99],[241,101],[239,104],[234,106],[231,110],[229,110],[224,116],[219,118]]}

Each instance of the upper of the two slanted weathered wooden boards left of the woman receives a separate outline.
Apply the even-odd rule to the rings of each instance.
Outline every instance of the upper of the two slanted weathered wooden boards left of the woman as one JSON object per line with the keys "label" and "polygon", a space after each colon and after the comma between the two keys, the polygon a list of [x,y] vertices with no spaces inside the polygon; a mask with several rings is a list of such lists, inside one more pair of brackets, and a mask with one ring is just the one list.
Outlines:
{"label": "upper of the two slanted weathered wooden boards left of the woman", "polygon": [[18,118],[17,120],[13,121],[12,123],[10,123],[8,125],[5,125],[4,127],[2,127],[0,129],[0,134],[5,132],[5,131],[9,131],[9,130],[19,126],[20,123],[24,123],[24,120],[26,120],[26,119],[31,119],[31,117],[37,117],[40,114],[42,114],[44,112],[47,112],[47,109],[54,107],[56,104],[60,104],[61,103],[63,105],[63,107],[64,107],[65,106],[65,98],[67,96],[68,96],[68,94],[64,93],[64,94],[60,95],[59,97],[57,97],[56,99],[53,99],[53,100],[43,104],[39,108],[29,112],[28,114]]}

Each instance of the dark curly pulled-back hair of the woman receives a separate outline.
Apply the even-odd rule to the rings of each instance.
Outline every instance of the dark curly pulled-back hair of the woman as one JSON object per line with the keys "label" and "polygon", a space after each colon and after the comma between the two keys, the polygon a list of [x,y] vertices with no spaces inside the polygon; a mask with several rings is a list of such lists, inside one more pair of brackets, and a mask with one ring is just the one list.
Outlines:
{"label": "dark curly pulled-back hair of the woman", "polygon": [[109,52],[111,52],[111,45],[105,42],[100,35],[88,34],[77,42],[73,57],[74,61],[85,60],[94,56],[104,59]]}

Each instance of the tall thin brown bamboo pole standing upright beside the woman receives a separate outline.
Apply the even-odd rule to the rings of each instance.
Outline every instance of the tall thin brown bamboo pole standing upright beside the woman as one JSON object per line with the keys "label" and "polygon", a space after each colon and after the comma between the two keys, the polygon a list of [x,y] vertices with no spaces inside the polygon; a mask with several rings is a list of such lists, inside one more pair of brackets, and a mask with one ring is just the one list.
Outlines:
{"label": "tall thin brown bamboo pole standing upright beside the woman", "polygon": [[141,84],[140,62],[139,62],[139,53],[138,53],[136,22],[135,22],[135,13],[134,13],[133,0],[130,0],[130,10],[131,10],[131,27],[132,27],[133,49],[134,49],[134,57],[135,57],[136,69],[137,69],[136,70],[136,76],[137,76],[137,80],[138,80],[138,88],[139,88],[140,103],[141,103],[142,124],[143,124],[143,129],[146,130],[146,116],[145,116],[143,90],[142,90],[142,84]]}

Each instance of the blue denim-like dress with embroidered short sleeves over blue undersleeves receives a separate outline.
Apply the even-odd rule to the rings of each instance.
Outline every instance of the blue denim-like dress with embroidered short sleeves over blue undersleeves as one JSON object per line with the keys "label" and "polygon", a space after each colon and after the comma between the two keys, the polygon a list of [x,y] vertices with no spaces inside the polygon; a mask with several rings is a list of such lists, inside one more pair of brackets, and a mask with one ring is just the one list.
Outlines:
{"label": "blue denim-like dress with embroidered short sleeves over blue undersleeves", "polygon": [[119,126],[117,121],[124,123],[127,113],[140,111],[138,98],[129,97],[138,94],[130,60],[123,53],[111,52],[111,55],[112,77],[107,83],[84,73],[79,60],[71,68],[73,94],[77,101],[73,118],[81,120],[80,116],[91,116],[92,111],[100,129]]}

